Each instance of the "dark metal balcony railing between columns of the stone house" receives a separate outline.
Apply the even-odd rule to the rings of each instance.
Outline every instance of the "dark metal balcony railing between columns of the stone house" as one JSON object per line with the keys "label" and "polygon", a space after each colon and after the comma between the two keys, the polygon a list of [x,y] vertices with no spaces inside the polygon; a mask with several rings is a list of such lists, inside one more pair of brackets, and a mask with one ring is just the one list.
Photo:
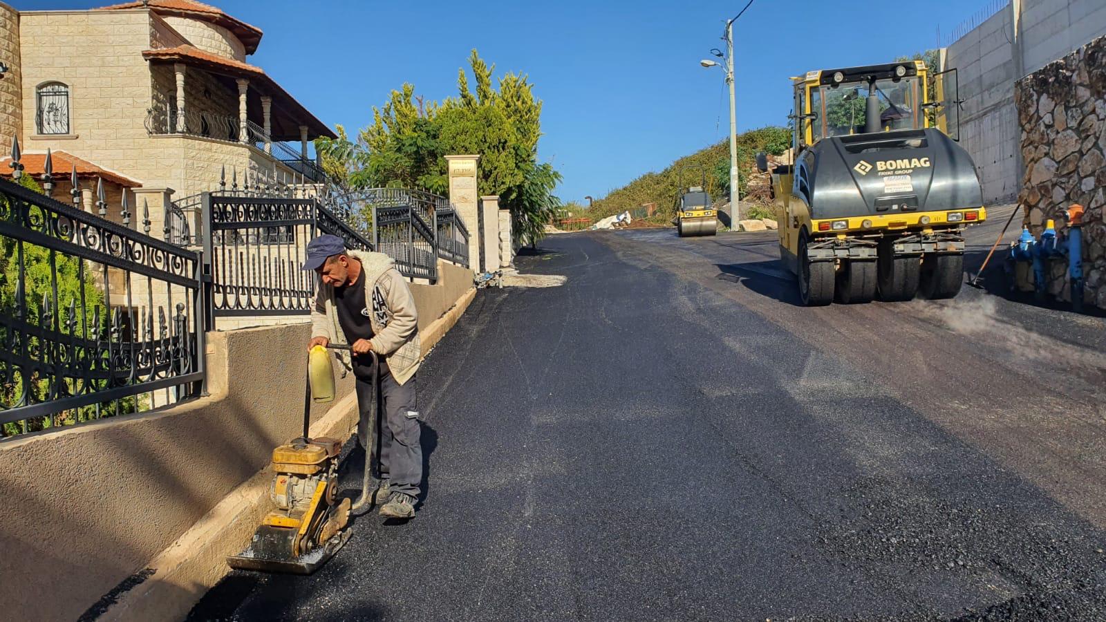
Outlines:
{"label": "dark metal balcony railing between columns of the stone house", "polygon": [[241,139],[241,120],[237,116],[220,115],[205,111],[185,111],[178,115],[177,108],[156,103],[146,111],[146,132],[152,136],[185,134],[202,136],[228,143],[246,143],[264,152],[269,144],[273,159],[299,174],[306,182],[323,183],[326,175],[314,162],[304,158],[301,153],[284,143],[274,143],[264,128],[252,121],[246,123],[246,139]]}

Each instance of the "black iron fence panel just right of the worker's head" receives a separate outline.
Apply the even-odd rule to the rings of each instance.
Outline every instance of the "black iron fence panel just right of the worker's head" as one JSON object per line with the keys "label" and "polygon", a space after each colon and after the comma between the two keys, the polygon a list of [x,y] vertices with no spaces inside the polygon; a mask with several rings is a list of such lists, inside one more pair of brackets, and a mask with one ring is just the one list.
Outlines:
{"label": "black iron fence panel just right of the worker's head", "polygon": [[396,268],[406,277],[438,278],[436,229],[427,225],[417,208],[374,207],[374,246],[396,260]]}

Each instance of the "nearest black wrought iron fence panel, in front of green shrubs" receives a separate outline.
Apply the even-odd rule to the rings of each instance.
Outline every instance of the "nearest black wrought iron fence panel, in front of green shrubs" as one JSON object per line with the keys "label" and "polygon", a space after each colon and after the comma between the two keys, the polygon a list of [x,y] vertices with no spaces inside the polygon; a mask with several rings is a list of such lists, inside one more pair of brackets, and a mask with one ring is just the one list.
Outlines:
{"label": "nearest black wrought iron fence panel, in front of green shrubs", "polygon": [[148,210],[132,228],[125,198],[122,225],[107,220],[102,183],[96,194],[98,215],[0,180],[0,436],[201,391],[199,255],[150,237]]}

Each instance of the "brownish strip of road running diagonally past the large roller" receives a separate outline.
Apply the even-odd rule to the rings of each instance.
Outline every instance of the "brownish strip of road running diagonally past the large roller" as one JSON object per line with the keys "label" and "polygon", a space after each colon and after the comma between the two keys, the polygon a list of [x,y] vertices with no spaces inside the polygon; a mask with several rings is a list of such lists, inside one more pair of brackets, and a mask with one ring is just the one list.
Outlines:
{"label": "brownish strip of road running diagonally past the large roller", "polygon": [[[905,405],[1022,474],[1095,526],[1106,528],[1106,423],[1096,404],[1056,394],[1052,385],[1011,369],[1008,361],[978,354],[970,350],[974,340],[921,323],[902,313],[900,303],[794,307],[772,293],[753,291],[749,284],[739,288],[714,278],[718,261],[698,252],[672,245],[643,245],[620,235],[599,239],[630,265],[659,267],[697,282],[808,348],[866,370],[884,385],[895,387]],[[710,265],[705,266],[705,260]],[[741,261],[741,257],[730,260]],[[907,308],[909,304],[930,303],[915,301]],[[889,335],[894,342],[873,335]],[[917,348],[908,348],[909,342]],[[926,366],[904,374],[904,356]],[[938,381],[933,375],[937,370],[942,374],[939,377],[953,380]],[[1034,396],[1032,408],[1023,395]],[[1104,398],[1106,395],[1099,393],[1098,402]],[[1073,417],[1073,413],[1078,415]]]}

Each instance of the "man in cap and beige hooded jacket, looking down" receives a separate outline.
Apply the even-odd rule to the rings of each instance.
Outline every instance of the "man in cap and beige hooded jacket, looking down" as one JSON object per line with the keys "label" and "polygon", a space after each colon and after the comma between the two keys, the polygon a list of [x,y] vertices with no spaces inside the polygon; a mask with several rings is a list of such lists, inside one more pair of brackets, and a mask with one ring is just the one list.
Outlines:
{"label": "man in cap and beige hooded jacket, looking down", "polygon": [[[374,494],[386,518],[413,518],[422,483],[421,428],[415,400],[415,372],[419,365],[418,315],[407,281],[395,261],[383,252],[346,250],[342,238],[323,235],[307,243],[304,270],[320,278],[311,312],[307,350],[328,343],[348,344],[352,355],[340,351],[353,371],[357,393],[357,442],[371,452],[379,487]],[[373,386],[369,352],[379,361],[379,386]],[[384,398],[377,421],[379,454],[368,447],[372,401]]]}

